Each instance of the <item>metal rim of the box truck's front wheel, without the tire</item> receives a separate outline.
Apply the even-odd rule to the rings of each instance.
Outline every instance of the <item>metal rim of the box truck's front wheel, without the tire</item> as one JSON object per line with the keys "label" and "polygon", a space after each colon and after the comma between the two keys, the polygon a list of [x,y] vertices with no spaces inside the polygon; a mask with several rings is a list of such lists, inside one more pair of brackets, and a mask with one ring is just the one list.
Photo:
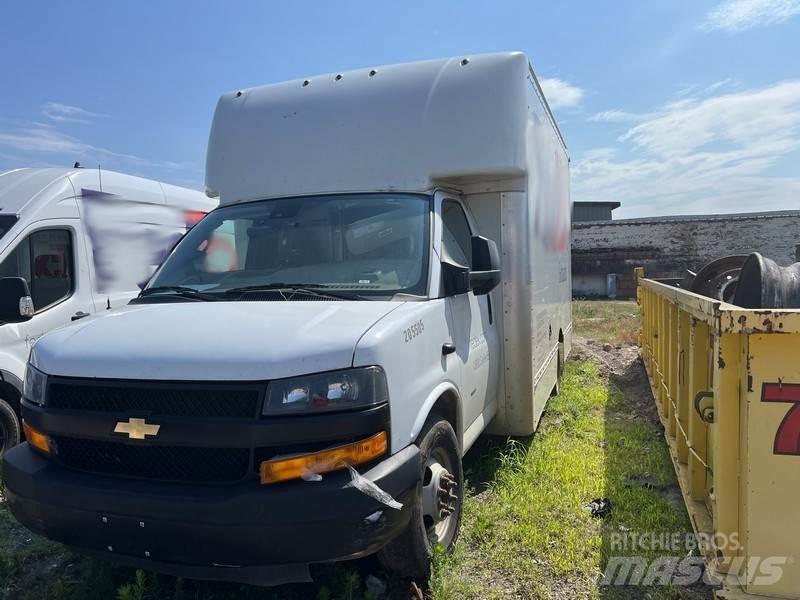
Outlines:
{"label": "metal rim of the box truck's front wheel, without the tire", "polygon": [[458,482],[450,472],[450,458],[437,448],[425,462],[422,480],[422,520],[431,544],[448,543],[456,526]]}

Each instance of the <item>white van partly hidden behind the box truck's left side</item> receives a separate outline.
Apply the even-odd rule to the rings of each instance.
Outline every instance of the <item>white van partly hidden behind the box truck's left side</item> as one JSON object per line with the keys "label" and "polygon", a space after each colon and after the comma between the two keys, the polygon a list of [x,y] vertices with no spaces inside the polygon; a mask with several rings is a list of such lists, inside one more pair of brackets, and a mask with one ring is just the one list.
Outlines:
{"label": "white van partly hidden behind the box truck's left side", "polygon": [[[201,192],[113,171],[0,173],[0,454],[20,440],[33,343],[126,304],[187,227],[215,206]],[[22,311],[18,292],[25,292]]]}

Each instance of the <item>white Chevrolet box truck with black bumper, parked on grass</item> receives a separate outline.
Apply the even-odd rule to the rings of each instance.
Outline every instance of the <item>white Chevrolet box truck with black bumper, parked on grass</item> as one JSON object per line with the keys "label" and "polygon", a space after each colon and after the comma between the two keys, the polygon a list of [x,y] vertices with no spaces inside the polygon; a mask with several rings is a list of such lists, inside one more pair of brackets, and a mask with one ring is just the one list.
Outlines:
{"label": "white Chevrolet box truck with black bumper, parked on grass", "polygon": [[3,475],[34,531],[279,583],[452,548],[461,458],[536,429],[570,349],[567,151],[528,59],[225,94],[221,206],[113,315],[34,347]]}

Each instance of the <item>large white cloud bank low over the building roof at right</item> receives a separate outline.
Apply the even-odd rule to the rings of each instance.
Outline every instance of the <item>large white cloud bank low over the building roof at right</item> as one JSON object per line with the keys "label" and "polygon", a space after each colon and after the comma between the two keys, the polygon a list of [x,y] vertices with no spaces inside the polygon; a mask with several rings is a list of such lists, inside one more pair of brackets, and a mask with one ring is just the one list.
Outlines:
{"label": "large white cloud bank low over the building roof at right", "polygon": [[573,199],[621,217],[796,208],[800,177],[772,169],[800,150],[800,80],[666,104],[618,142],[578,157]]}

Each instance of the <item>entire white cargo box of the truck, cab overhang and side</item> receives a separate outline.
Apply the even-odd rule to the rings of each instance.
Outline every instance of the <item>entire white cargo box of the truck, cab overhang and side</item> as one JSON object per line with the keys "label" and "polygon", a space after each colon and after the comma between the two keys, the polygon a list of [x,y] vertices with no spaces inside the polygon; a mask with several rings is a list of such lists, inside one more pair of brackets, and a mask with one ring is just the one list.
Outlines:
{"label": "entire white cargo box of the truck, cab overhang and side", "polygon": [[[231,92],[206,187],[221,205],[345,192],[458,192],[501,247],[504,356],[492,429],[534,431],[569,352],[569,158],[527,57],[456,57]],[[562,342],[559,345],[559,342]],[[531,402],[531,398],[535,401]]]}

